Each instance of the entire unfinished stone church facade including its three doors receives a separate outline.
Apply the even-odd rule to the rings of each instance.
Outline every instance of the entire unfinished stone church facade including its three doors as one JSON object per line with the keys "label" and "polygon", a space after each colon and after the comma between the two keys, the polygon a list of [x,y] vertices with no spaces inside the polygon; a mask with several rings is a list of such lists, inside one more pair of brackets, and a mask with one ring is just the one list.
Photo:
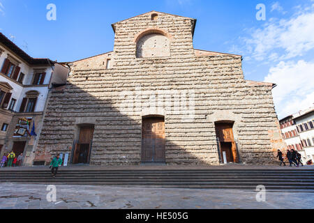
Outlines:
{"label": "entire unfinished stone church facade including its three doors", "polygon": [[242,57],[193,48],[195,19],[152,11],[112,24],[114,50],[68,63],[45,109],[36,161],[270,163],[285,148],[274,84]]}

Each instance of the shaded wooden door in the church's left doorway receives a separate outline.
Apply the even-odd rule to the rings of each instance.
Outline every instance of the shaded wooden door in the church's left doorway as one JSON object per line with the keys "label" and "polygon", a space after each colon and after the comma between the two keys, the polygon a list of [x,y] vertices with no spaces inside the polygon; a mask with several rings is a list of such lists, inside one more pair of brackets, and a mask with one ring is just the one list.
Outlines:
{"label": "shaded wooden door in the church's left doorway", "polygon": [[73,164],[87,164],[91,154],[91,141],[93,140],[94,127],[84,126],[80,128],[80,138],[75,144]]}

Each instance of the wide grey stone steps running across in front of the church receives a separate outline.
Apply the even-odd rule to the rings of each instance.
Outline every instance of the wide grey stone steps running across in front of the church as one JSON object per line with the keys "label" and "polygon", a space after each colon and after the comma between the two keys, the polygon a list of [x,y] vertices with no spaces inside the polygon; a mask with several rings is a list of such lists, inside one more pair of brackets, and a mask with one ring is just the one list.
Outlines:
{"label": "wide grey stone steps running across in front of the church", "polygon": [[42,185],[107,185],[193,189],[313,190],[314,169],[61,169],[52,178],[49,169],[1,170],[0,183]]}

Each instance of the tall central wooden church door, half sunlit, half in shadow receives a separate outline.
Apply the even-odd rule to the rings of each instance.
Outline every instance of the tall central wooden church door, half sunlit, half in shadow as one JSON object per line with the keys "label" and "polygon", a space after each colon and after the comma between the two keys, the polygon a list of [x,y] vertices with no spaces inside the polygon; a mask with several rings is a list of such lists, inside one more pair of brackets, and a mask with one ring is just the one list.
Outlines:
{"label": "tall central wooden church door, half sunlit, half in shadow", "polygon": [[142,162],[165,162],[165,118],[143,118]]}

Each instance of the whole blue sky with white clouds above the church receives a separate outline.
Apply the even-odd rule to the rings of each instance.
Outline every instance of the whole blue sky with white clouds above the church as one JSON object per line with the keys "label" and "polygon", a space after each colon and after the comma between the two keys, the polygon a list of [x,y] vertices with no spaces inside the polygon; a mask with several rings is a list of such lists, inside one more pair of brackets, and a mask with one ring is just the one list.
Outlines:
{"label": "whole blue sky with white clouds above the church", "polygon": [[[49,3],[56,21],[46,19]],[[111,24],[151,10],[197,19],[196,49],[241,54],[246,79],[278,84],[279,118],[313,106],[313,0],[0,0],[0,31],[33,57],[75,61],[112,51]]]}

